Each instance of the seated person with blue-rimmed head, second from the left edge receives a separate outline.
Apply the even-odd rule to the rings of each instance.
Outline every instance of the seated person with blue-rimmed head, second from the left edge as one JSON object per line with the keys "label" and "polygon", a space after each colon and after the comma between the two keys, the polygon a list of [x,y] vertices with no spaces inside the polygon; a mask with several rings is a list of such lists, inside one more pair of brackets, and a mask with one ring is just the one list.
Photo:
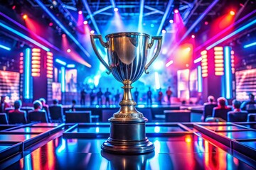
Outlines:
{"label": "seated person with blue-rimmed head, second from the left edge", "polygon": [[23,123],[26,124],[26,111],[21,111],[21,100],[14,101],[14,110],[9,111],[9,123],[16,124],[16,123]]}

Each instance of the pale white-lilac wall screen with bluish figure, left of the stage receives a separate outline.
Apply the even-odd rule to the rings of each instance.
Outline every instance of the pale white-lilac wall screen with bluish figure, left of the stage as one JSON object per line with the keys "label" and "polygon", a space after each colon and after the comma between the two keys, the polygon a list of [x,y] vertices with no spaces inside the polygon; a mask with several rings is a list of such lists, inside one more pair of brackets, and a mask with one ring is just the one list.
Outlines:
{"label": "pale white-lilac wall screen with bluish figure, left of the stage", "polygon": [[65,71],[65,92],[78,92],[77,77],[77,69],[68,69]]}

